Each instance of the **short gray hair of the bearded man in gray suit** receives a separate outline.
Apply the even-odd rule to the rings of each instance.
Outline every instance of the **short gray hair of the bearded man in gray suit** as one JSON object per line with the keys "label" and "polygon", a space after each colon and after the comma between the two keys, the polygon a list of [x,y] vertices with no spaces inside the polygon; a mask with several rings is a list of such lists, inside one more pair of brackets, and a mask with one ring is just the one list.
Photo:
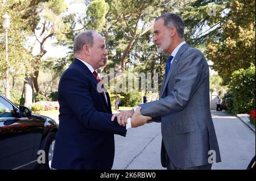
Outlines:
{"label": "short gray hair of the bearded man in gray suit", "polygon": [[176,15],[174,13],[166,13],[156,18],[155,21],[161,18],[163,18],[164,20],[164,26],[168,28],[175,27],[179,37],[184,37],[184,22],[179,15]]}

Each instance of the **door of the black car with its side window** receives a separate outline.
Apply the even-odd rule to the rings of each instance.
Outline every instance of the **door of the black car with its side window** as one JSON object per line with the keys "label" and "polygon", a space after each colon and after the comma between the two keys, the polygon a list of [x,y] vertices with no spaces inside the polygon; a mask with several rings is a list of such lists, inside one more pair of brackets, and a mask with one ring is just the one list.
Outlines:
{"label": "door of the black car with its side window", "polygon": [[30,165],[34,151],[34,121],[19,117],[0,96],[0,169],[22,169]]}

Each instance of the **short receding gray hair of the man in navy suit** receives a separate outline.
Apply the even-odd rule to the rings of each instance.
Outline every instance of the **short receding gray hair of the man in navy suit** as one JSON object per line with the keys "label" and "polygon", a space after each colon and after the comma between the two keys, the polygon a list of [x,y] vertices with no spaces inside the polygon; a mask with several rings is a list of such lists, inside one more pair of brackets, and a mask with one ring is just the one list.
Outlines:
{"label": "short receding gray hair of the man in navy suit", "polygon": [[80,52],[84,45],[89,45],[93,47],[93,33],[96,33],[94,30],[86,30],[75,37],[74,40],[74,53]]}

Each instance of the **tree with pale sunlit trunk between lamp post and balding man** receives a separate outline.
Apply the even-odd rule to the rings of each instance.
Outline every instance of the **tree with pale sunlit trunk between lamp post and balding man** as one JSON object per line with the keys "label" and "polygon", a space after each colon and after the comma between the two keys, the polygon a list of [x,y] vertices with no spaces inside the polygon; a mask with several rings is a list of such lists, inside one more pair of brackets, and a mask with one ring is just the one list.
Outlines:
{"label": "tree with pale sunlit trunk between lamp post and balding man", "polygon": [[[18,20],[20,21],[18,24],[19,30],[22,30],[23,36],[30,37],[29,40],[34,39],[32,44],[29,45],[29,41],[24,41],[26,42],[26,46],[21,46],[22,48],[26,47],[28,52],[30,52],[32,58],[27,60],[27,62],[34,69],[33,73],[25,69],[25,106],[30,106],[32,103],[33,85],[36,91],[43,93],[38,86],[38,74],[40,61],[47,52],[46,42],[55,38],[61,44],[65,44],[65,39],[72,37],[70,34],[72,34],[72,28],[75,27],[74,22],[72,15],[63,14],[67,10],[64,0],[11,0],[5,2],[5,9],[18,16]],[[68,22],[69,20],[71,22]],[[24,38],[23,40],[28,40],[28,38]],[[33,56],[35,53],[34,49],[38,44],[40,46],[40,52]]]}

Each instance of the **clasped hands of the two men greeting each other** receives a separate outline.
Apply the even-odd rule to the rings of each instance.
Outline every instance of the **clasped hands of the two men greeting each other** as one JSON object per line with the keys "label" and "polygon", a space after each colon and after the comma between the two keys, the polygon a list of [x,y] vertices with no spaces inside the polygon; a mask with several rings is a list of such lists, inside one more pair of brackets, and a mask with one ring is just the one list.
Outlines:
{"label": "clasped hands of the two men greeting each other", "polygon": [[128,123],[127,119],[130,117],[132,128],[136,128],[141,125],[144,125],[152,119],[151,117],[143,116],[141,114],[141,107],[138,107],[135,112],[132,109],[129,111],[121,111],[119,113],[114,113],[111,120],[114,121],[115,117],[117,117],[118,124],[123,125],[124,127]]}

